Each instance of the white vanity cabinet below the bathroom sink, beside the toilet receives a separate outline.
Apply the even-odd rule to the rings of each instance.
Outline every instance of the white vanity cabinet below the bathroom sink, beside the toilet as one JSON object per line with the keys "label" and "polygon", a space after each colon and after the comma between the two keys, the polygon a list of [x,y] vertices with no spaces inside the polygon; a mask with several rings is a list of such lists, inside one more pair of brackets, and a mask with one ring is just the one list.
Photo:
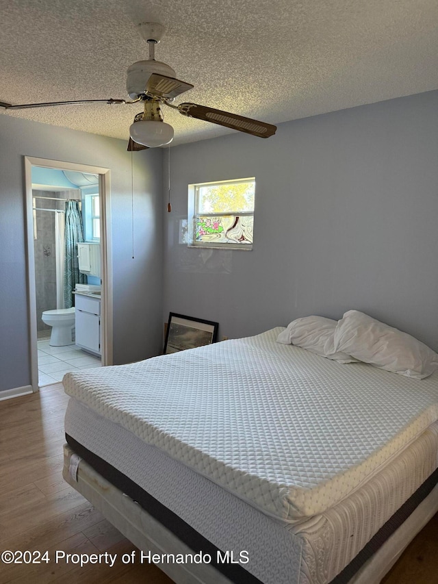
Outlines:
{"label": "white vanity cabinet below the bathroom sink, beside the toilet", "polygon": [[101,355],[101,299],[75,294],[76,344]]}

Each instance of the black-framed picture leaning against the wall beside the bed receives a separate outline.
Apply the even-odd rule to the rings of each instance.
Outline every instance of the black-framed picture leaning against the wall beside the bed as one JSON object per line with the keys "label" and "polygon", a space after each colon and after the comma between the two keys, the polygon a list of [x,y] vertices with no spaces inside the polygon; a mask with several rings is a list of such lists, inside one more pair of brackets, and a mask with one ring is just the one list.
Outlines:
{"label": "black-framed picture leaning against the wall beside the bed", "polygon": [[212,320],[170,312],[163,354],[170,355],[214,343],[218,337],[218,327],[219,323]]}

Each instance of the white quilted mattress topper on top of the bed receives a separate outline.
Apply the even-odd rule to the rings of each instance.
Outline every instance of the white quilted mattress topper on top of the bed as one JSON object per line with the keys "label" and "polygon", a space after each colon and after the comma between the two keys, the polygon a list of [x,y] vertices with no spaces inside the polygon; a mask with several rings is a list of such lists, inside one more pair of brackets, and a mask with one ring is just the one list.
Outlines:
{"label": "white quilted mattress topper on top of the bed", "polygon": [[438,419],[438,374],[413,380],[276,343],[283,328],[99,370],[67,394],[285,521],[369,481]]}

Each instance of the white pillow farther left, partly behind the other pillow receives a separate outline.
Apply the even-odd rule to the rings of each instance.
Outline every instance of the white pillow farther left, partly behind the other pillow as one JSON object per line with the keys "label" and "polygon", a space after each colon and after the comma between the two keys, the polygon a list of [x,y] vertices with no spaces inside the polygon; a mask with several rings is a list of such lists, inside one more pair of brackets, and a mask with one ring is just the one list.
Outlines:
{"label": "white pillow farther left, partly behind the other pillow", "polygon": [[324,316],[305,316],[293,320],[287,329],[282,331],[277,337],[277,342],[283,344],[294,344],[302,348],[307,348],[311,353],[328,357],[338,363],[353,363],[346,353],[335,352],[334,338],[336,320],[324,318]]}

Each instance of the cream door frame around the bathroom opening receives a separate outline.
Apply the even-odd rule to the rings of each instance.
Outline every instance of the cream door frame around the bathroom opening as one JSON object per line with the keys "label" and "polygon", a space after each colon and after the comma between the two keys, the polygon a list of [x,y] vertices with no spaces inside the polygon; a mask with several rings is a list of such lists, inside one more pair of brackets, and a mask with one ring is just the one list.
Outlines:
{"label": "cream door frame around the bathroom opening", "polygon": [[79,173],[99,175],[99,205],[101,208],[101,351],[102,365],[113,362],[113,296],[112,296],[112,246],[111,246],[111,190],[110,169],[89,164],[77,164],[62,160],[49,160],[24,156],[26,190],[26,263],[27,263],[27,312],[29,315],[29,357],[32,391],[38,391],[38,335],[36,323],[36,284],[34,255],[34,222],[32,214],[32,166],[76,170]]}

